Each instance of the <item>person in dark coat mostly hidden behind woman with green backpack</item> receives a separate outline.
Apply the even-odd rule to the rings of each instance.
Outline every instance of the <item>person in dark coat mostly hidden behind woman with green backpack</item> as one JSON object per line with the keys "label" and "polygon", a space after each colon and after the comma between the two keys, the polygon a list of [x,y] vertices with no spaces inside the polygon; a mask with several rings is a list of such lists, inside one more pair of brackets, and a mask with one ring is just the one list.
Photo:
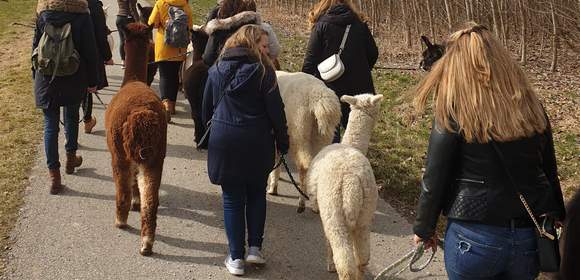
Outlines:
{"label": "person in dark coat mostly hidden behind woman with green backpack", "polygon": [[[97,90],[101,90],[109,86],[107,81],[107,72],[105,65],[113,65],[113,54],[107,36],[109,35],[109,28],[103,10],[103,2],[99,0],[88,0],[91,20],[93,21],[93,28],[95,32],[95,40],[97,41]],[[85,126],[85,133],[91,133],[97,119],[93,117],[93,94],[87,94],[82,103],[84,112],[83,122]]]}

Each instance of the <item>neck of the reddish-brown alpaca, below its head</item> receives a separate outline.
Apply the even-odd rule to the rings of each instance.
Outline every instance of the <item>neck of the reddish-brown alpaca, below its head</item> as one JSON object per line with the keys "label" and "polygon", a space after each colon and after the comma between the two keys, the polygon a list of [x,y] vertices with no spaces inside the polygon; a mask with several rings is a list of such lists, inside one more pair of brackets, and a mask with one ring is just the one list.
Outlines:
{"label": "neck of the reddish-brown alpaca, below its head", "polygon": [[130,81],[141,81],[147,83],[147,60],[149,57],[149,46],[135,46],[125,44],[125,74],[123,85]]}

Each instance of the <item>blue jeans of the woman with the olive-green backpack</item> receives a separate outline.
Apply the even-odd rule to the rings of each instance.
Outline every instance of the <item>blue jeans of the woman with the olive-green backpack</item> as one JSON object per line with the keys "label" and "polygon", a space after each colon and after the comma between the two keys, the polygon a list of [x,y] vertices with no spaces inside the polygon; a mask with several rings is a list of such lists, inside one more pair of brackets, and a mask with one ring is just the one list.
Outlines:
{"label": "blue jeans of the woman with the olive-green backpack", "polygon": [[[76,152],[79,138],[79,104],[64,107],[64,136],[67,152]],[[58,131],[60,107],[43,109],[44,112],[44,152],[48,169],[60,168],[58,160]]]}

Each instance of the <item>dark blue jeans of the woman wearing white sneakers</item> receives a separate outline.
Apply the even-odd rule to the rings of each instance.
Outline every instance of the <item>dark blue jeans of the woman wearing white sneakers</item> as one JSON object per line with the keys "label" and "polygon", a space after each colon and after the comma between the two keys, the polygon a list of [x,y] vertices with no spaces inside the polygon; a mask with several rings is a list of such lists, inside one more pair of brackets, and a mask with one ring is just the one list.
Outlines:
{"label": "dark blue jeans of the woman wearing white sneakers", "polygon": [[266,183],[267,178],[260,182],[222,185],[224,223],[230,255],[234,260],[244,259],[246,222],[248,245],[262,247],[266,223]]}

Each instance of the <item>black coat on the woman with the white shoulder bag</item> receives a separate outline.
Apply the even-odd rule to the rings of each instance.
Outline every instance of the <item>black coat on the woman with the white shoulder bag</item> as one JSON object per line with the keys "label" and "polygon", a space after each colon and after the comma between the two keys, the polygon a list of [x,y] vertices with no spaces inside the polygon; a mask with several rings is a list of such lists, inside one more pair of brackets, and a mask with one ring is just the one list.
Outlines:
{"label": "black coat on the woman with the white shoulder bag", "polygon": [[314,25],[302,72],[320,79],[318,64],[338,53],[349,24],[350,32],[341,55],[345,72],[339,79],[326,84],[338,96],[375,93],[371,70],[379,55],[377,45],[368,26],[344,4],[331,7]]}

